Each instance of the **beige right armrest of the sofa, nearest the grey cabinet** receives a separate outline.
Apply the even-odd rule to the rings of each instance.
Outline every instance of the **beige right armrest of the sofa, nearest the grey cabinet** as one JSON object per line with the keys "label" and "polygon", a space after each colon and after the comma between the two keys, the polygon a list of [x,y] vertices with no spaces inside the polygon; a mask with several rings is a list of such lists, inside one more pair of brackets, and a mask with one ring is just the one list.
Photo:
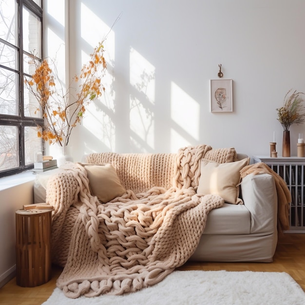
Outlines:
{"label": "beige right armrest of the sofa, nearest the grey cabinet", "polygon": [[241,195],[250,212],[251,233],[277,232],[277,192],[270,174],[249,174],[242,179]]}

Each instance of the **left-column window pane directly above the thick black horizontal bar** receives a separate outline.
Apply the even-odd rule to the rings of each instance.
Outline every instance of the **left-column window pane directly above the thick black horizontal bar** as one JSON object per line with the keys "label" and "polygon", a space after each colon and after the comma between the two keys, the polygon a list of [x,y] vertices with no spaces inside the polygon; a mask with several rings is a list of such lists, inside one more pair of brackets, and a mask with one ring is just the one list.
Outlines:
{"label": "left-column window pane directly above the thick black horizontal bar", "polygon": [[0,114],[19,114],[17,84],[17,73],[0,68]]}

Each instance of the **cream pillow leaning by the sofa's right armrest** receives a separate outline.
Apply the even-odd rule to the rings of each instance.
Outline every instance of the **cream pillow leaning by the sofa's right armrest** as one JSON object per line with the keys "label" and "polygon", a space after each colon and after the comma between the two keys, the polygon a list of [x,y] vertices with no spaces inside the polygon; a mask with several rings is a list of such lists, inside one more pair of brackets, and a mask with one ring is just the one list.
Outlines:
{"label": "cream pillow leaning by the sofa's right armrest", "polygon": [[231,204],[242,204],[239,196],[240,171],[250,158],[229,163],[201,160],[198,194],[217,194]]}

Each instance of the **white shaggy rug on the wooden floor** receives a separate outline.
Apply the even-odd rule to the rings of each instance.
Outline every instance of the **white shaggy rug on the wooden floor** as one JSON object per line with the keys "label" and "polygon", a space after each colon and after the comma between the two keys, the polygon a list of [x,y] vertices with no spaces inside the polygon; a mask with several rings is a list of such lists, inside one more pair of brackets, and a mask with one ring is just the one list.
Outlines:
{"label": "white shaggy rug on the wooden floor", "polygon": [[174,271],[122,296],[69,299],[56,288],[43,305],[304,305],[305,292],[285,272]]}

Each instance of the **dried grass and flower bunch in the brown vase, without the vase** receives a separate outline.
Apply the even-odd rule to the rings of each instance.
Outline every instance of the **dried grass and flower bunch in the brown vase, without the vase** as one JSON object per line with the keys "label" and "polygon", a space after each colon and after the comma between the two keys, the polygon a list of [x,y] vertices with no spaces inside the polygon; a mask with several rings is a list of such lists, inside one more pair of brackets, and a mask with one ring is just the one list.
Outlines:
{"label": "dried grass and flower bunch in the brown vase, without the vase", "polygon": [[288,131],[292,124],[304,123],[304,98],[301,96],[304,95],[304,93],[294,91],[289,95],[291,90],[292,89],[285,95],[284,106],[276,109],[278,112],[278,121],[283,126],[284,131]]}

